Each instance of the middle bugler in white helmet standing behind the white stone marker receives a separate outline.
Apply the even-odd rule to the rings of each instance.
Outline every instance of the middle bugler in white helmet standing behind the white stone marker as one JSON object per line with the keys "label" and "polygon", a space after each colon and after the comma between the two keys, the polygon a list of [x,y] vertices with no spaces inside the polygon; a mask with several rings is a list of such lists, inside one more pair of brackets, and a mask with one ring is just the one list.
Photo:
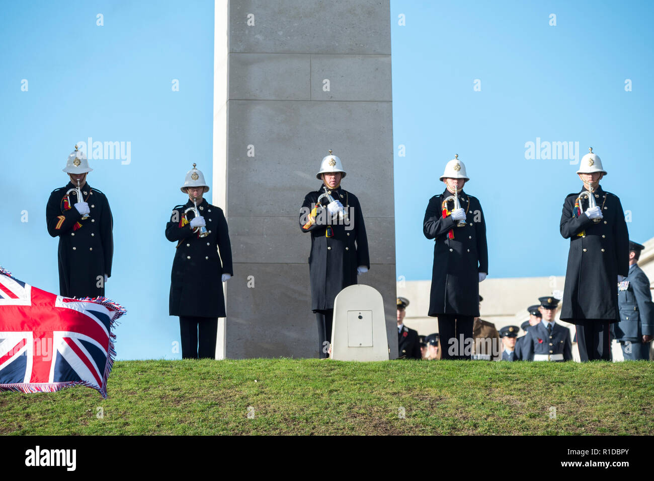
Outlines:
{"label": "middle bugler in white helmet standing behind the white stone marker", "polygon": [[300,209],[300,229],[311,233],[311,310],[321,358],[330,352],[336,295],[370,269],[363,213],[358,198],[341,187],[345,175],[341,159],[330,150],[316,174],[322,184],[305,196]]}

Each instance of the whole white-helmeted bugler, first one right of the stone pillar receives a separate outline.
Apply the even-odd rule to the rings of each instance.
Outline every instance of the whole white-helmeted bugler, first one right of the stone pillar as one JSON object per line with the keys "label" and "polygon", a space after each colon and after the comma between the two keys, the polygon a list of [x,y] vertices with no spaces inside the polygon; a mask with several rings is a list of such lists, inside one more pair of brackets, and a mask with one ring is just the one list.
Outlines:
{"label": "whole white-helmeted bugler, first one right of the stone pillar", "polygon": [[434,239],[428,315],[438,317],[441,359],[470,359],[479,283],[488,274],[486,223],[479,200],[463,190],[470,178],[458,155],[440,179],[445,190],[429,200],[422,223],[424,236]]}

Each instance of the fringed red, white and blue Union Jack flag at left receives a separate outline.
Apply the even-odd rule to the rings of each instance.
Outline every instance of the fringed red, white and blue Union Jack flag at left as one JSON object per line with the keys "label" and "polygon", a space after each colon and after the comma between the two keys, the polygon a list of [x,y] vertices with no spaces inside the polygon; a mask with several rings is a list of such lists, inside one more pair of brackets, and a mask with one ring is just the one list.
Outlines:
{"label": "fringed red, white and blue Union Jack flag at left", "polygon": [[0,267],[0,391],[54,392],[85,385],[107,398],[112,327],[122,306],[104,297],[69,299]]}

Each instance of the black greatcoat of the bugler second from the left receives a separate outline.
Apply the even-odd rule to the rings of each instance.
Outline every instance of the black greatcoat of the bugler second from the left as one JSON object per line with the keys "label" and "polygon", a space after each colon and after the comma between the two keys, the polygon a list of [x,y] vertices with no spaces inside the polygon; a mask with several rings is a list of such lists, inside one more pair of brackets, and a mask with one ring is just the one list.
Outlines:
{"label": "black greatcoat of the bugler second from the left", "polygon": [[[165,226],[167,240],[178,242],[171,272],[169,314],[226,317],[222,274],[234,274],[227,221],[220,207],[203,199],[198,211],[205,219],[209,235],[200,238],[189,224],[182,225],[188,207],[193,207],[191,200],[186,205],[175,206]],[[193,213],[189,212],[188,221],[192,218]]]}

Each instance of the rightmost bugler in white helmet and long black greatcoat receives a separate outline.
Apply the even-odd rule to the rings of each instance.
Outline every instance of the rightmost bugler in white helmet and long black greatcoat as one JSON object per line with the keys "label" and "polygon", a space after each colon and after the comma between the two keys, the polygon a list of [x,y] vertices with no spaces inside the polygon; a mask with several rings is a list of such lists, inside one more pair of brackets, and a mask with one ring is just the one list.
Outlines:
{"label": "rightmost bugler in white helmet and long black greatcoat", "polygon": [[620,199],[600,186],[602,160],[589,150],[577,170],[583,190],[568,194],[561,214],[570,251],[560,319],[576,325],[581,361],[608,361],[609,325],[619,321],[615,285],[628,274],[629,236]]}

